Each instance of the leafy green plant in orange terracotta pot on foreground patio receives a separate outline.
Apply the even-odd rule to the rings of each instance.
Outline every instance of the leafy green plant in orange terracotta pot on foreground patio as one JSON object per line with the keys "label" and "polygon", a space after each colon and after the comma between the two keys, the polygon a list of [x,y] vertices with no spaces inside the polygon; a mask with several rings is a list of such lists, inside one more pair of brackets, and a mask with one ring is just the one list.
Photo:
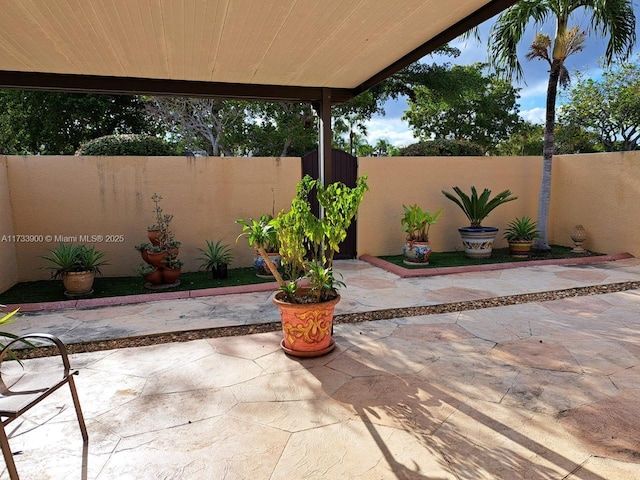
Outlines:
{"label": "leafy green plant in orange terracotta pot on foreground patio", "polygon": [[[273,301],[282,319],[281,346],[291,355],[323,355],[335,346],[333,311],[340,301],[337,289],[344,284],[335,277],[333,257],[368,190],[366,180],[366,175],[359,177],[355,187],[341,182],[323,186],[306,175],[298,183],[291,209],[280,212],[271,223],[280,243],[286,281],[259,248],[280,287]],[[311,209],[313,191],[324,211],[321,217]]]}

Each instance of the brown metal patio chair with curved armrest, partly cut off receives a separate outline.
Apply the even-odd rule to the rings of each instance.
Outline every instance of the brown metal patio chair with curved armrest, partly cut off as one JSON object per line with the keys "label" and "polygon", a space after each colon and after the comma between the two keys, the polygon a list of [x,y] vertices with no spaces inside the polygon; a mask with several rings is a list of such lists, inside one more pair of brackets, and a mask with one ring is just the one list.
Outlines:
{"label": "brown metal patio chair with curved armrest, partly cut off", "polygon": [[[0,351],[0,364],[9,355],[9,351],[12,347],[15,348],[17,343],[30,343],[32,340],[44,340],[53,343],[60,353],[62,359],[62,379],[55,379],[53,382],[50,378],[39,375],[37,378],[35,375],[31,377],[31,380],[36,379],[38,382],[37,389],[20,390],[20,380],[11,387],[7,387],[2,379],[2,372],[0,371],[0,418],[2,419],[2,429],[0,429],[0,447],[2,448],[2,455],[7,465],[9,477],[11,480],[19,480],[18,471],[16,470],[16,464],[13,459],[13,454],[9,446],[9,439],[6,433],[6,426],[20,417],[23,413],[29,410],[31,407],[37,405],[42,400],[47,398],[53,392],[58,390],[65,384],[69,385],[71,390],[71,398],[76,409],[76,416],[78,417],[78,423],[80,425],[80,431],[82,433],[82,439],[86,444],[89,436],[87,434],[87,428],[84,423],[84,417],[82,415],[82,409],[80,408],[80,400],[78,399],[78,392],[73,380],[73,376],[78,374],[78,370],[71,368],[69,363],[69,356],[67,354],[67,347],[57,337],[48,333],[32,333],[22,335],[11,342],[9,342]],[[40,383],[42,382],[42,383]]]}

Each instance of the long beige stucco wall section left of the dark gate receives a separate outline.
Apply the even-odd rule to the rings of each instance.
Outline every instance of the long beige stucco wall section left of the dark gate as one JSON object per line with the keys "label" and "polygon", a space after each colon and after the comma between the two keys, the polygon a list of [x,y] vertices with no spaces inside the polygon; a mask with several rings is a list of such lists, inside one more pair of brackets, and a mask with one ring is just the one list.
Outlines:
{"label": "long beige stucco wall section left of the dark gate", "polygon": [[205,246],[205,239],[222,239],[233,248],[234,265],[249,265],[253,252],[246,240],[235,243],[241,229],[234,221],[288,207],[301,176],[299,158],[7,160],[14,231],[45,236],[43,242],[16,243],[19,281],[48,278],[48,272],[40,269],[44,265],[40,256],[64,237],[92,244],[80,242],[81,235],[102,237],[95,245],[107,252],[111,262],[103,274],[133,275],[141,263],[134,246],[147,241],[146,228],[154,223],[153,193],[163,197],[164,212],[174,215],[171,227],[182,242],[185,270],[197,270],[197,249]]}

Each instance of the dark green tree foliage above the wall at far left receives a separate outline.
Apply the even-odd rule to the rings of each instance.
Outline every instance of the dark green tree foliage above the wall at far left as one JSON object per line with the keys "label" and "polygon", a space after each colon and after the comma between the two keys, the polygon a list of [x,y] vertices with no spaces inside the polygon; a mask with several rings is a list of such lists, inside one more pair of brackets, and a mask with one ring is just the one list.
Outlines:
{"label": "dark green tree foliage above the wall at far left", "polygon": [[114,133],[155,133],[138,97],[0,90],[0,153],[73,155]]}

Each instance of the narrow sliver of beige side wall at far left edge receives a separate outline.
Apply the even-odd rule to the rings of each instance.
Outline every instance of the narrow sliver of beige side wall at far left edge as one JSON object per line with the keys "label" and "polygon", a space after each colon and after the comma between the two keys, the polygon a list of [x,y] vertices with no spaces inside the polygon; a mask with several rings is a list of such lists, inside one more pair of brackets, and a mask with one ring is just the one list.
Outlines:
{"label": "narrow sliver of beige side wall at far left edge", "polygon": [[[6,241],[13,236],[9,169],[7,157],[0,156],[0,292],[18,281],[15,244]],[[2,241],[2,240],[5,241]]]}

